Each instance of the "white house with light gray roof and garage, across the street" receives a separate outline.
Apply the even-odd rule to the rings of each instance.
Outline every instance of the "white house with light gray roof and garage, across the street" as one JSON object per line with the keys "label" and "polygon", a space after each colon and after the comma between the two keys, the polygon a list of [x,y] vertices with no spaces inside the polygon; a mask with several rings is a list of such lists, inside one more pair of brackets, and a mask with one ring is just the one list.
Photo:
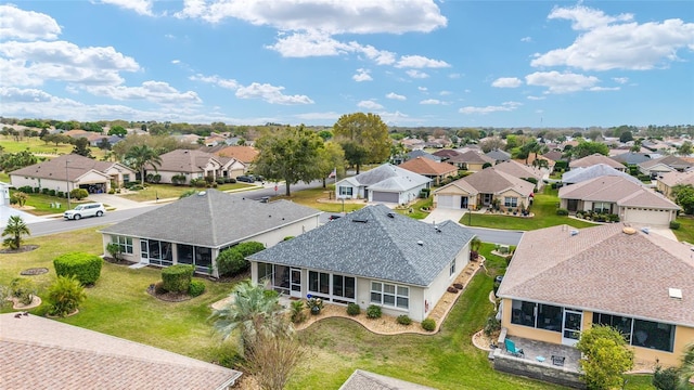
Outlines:
{"label": "white house with light gray roof and garage, across the street", "polygon": [[384,164],[372,170],[335,183],[336,198],[367,199],[406,205],[428,188],[432,179],[407,169]]}

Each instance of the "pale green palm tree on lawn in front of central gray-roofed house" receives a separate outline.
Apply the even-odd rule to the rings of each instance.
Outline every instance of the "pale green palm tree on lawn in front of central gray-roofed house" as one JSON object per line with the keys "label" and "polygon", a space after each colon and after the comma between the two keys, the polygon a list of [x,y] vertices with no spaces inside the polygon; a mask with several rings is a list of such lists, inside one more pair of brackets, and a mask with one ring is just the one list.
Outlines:
{"label": "pale green palm tree on lawn in front of central gray-roofed house", "polygon": [[261,285],[244,281],[234,287],[230,298],[227,307],[215,311],[211,318],[222,339],[237,334],[239,346],[244,353],[253,348],[259,334],[269,337],[291,334],[279,297],[268,295]]}

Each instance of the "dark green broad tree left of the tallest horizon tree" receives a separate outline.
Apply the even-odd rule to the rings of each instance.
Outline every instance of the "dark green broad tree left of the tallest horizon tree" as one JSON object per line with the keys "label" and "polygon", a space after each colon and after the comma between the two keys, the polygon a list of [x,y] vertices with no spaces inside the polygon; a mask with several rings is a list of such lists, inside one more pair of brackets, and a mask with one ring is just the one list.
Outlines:
{"label": "dark green broad tree left of the tallest horizon tree", "polygon": [[286,196],[291,196],[292,184],[323,177],[320,161],[323,140],[303,125],[267,132],[256,141],[256,147],[260,153],[254,172],[268,180],[284,180]]}

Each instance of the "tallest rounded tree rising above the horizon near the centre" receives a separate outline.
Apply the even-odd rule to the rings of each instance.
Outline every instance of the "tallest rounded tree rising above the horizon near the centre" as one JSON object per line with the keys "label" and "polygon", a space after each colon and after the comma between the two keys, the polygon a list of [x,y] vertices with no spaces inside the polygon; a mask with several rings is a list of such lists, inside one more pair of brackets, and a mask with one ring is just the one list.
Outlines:
{"label": "tallest rounded tree rising above the horizon near the centre", "polygon": [[[333,133],[340,144],[355,142],[363,147],[365,162],[383,162],[390,154],[390,139],[388,127],[375,114],[355,113],[346,114],[333,125]],[[343,146],[343,148],[345,148]],[[345,157],[349,157],[345,150]],[[359,167],[357,167],[359,172]]]}

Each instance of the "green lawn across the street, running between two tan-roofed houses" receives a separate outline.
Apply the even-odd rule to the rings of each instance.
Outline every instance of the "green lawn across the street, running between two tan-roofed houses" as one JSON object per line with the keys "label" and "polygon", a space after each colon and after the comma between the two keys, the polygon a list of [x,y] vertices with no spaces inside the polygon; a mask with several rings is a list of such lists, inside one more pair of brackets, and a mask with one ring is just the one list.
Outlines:
{"label": "green lawn across the street, running between two tan-roofed houses", "polygon": [[517,231],[530,231],[536,229],[556,226],[560,224],[567,224],[574,227],[588,227],[595,224],[576,220],[568,217],[562,217],[556,214],[556,205],[560,202],[557,197],[557,190],[544,188],[543,194],[535,194],[535,200],[530,212],[535,214],[532,218],[522,218],[513,216],[502,214],[478,214],[472,213],[472,221],[470,214],[464,214],[460,219],[460,223],[468,226],[492,227],[492,229],[505,229]]}

